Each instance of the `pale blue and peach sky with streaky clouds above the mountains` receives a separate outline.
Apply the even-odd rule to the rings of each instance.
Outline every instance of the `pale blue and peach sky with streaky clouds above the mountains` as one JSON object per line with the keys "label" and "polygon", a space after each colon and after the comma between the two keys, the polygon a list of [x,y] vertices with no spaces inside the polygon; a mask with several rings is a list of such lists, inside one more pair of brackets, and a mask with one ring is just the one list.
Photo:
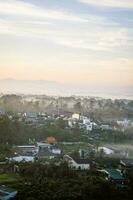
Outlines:
{"label": "pale blue and peach sky with streaky clouds above the mountains", "polygon": [[0,0],[0,79],[133,86],[133,0]]}

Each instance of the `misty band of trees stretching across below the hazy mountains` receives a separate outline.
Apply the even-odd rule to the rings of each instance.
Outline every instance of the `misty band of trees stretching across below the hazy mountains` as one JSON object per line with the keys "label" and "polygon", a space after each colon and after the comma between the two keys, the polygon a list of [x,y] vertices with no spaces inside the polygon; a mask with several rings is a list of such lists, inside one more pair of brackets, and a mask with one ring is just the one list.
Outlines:
{"label": "misty band of trees stretching across below the hazy mountains", "polygon": [[94,119],[110,120],[133,118],[132,100],[111,100],[78,97],[17,96],[0,97],[0,108],[6,112],[79,112]]}

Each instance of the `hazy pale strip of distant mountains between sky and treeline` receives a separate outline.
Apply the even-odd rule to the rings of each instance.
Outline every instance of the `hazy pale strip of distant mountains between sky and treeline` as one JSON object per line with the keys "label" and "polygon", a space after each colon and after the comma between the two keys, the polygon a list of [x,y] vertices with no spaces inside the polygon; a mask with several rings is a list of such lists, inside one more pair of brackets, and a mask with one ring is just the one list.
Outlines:
{"label": "hazy pale strip of distant mountains between sky and treeline", "polygon": [[72,85],[46,80],[3,79],[0,80],[0,93],[133,99],[133,87]]}

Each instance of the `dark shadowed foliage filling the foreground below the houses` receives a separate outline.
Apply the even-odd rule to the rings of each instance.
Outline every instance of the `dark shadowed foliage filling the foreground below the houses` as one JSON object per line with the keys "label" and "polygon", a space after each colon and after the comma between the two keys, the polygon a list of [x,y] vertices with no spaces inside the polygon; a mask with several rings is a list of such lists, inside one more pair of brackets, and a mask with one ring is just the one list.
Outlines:
{"label": "dark shadowed foliage filling the foreground below the houses", "polygon": [[18,183],[16,200],[131,200],[132,189],[120,190],[90,171],[72,171],[66,163],[55,165],[23,165],[23,182]]}

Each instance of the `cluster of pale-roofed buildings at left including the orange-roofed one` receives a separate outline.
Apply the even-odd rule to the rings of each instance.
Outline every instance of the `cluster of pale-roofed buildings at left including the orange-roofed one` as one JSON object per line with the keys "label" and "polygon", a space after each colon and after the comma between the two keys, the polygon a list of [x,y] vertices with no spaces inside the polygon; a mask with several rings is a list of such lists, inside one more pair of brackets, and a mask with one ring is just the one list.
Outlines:
{"label": "cluster of pale-roofed buildings at left including the orange-roofed one", "polygon": [[37,160],[51,160],[61,155],[61,150],[56,147],[56,139],[47,137],[44,142],[37,142],[34,145],[21,145],[15,147],[15,156],[9,158],[12,162],[34,162]]}

